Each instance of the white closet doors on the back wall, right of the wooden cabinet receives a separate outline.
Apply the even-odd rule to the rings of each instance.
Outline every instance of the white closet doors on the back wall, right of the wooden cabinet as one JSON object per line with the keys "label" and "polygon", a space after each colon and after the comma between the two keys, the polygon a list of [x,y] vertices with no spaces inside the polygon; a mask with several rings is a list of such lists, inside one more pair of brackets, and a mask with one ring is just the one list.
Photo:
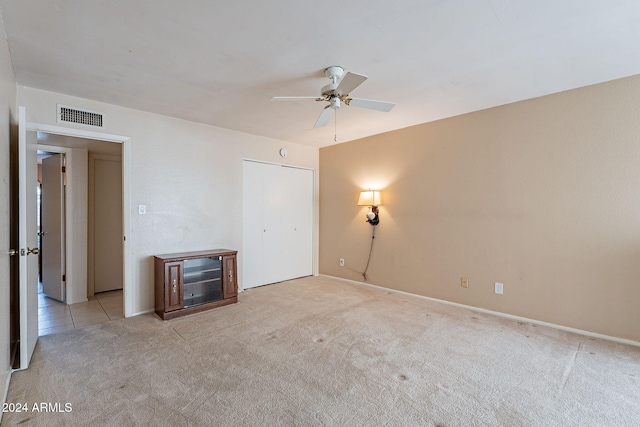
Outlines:
{"label": "white closet doors on the back wall, right of the wooden cabinet", "polygon": [[313,274],[313,171],[245,161],[244,288]]}

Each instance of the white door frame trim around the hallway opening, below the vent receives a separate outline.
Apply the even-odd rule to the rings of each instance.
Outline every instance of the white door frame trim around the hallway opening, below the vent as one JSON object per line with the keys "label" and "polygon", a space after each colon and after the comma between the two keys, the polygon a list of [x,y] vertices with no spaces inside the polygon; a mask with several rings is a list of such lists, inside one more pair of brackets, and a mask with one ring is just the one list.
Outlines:
{"label": "white door frame trim around the hallway opening, below the vent", "polygon": [[27,122],[26,130],[52,135],[95,139],[122,144],[122,232],[123,232],[123,298],[124,317],[133,316],[133,279],[131,262],[131,138],[90,130]]}

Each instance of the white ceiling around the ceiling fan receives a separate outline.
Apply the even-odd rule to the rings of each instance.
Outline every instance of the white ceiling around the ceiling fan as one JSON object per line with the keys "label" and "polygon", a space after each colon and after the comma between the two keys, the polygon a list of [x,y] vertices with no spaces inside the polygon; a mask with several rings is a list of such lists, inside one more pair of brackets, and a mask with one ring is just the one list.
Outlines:
{"label": "white ceiling around the ceiling fan", "polygon": [[[638,0],[0,0],[20,85],[313,146],[640,74]],[[369,76],[314,129],[323,70]]]}

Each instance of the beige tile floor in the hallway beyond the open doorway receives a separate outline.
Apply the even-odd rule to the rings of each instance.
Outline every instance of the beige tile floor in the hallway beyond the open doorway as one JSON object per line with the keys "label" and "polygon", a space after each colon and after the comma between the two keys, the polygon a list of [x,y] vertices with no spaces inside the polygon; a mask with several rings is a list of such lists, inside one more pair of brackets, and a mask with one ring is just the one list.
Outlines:
{"label": "beige tile floor in the hallway beyond the open doorway", "polygon": [[38,294],[39,335],[64,332],[124,317],[122,290],[101,292],[89,301],[67,305]]}

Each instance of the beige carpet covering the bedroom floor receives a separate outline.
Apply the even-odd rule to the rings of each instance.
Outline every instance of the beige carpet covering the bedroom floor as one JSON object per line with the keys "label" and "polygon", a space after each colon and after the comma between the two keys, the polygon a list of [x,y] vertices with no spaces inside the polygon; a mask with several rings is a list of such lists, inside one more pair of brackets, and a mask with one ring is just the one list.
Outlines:
{"label": "beige carpet covering the bedroom floor", "polygon": [[326,277],[42,337],[2,425],[638,426],[640,348]]}

